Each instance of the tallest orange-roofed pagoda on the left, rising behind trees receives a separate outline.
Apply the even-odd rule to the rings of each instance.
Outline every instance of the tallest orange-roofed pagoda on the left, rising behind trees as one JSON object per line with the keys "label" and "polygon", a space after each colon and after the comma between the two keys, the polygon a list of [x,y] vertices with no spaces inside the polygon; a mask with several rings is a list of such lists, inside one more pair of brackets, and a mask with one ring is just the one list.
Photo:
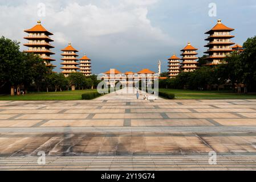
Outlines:
{"label": "tallest orange-roofed pagoda on the left, rising behind trees", "polygon": [[39,55],[40,58],[44,60],[44,63],[47,67],[56,67],[51,64],[51,61],[55,61],[52,59],[50,55],[54,55],[55,53],[50,51],[50,48],[54,48],[50,42],[53,42],[50,38],[50,35],[53,35],[51,32],[47,31],[42,25],[40,20],[38,20],[36,26],[32,27],[29,30],[25,30],[25,32],[29,33],[24,39],[29,40],[28,43],[23,44],[26,47],[29,47],[24,52],[34,53],[35,55]]}

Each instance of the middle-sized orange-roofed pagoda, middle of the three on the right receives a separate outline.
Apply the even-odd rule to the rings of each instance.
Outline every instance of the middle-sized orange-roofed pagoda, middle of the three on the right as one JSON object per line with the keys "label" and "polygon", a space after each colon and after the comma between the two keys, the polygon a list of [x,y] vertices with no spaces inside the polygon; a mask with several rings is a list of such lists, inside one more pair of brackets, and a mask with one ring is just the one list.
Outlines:
{"label": "middle-sized orange-roofed pagoda, middle of the three on the right", "polygon": [[184,72],[193,72],[196,69],[198,69],[197,67],[197,48],[194,48],[193,46],[191,46],[190,42],[188,42],[188,45],[186,47],[184,47],[181,51],[182,54],[182,65],[181,65],[181,69]]}

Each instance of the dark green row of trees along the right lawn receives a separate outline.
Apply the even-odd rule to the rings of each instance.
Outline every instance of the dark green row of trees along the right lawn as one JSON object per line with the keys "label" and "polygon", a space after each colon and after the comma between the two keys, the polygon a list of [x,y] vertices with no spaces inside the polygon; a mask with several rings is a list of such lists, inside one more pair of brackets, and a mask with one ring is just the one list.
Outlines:
{"label": "dark green row of trees along the right lawn", "polygon": [[[226,64],[204,67],[205,56],[199,59],[200,68],[181,72],[176,78],[160,80],[160,88],[172,89],[232,89],[234,92],[256,92],[256,36],[243,44],[243,52],[233,52],[224,59]],[[164,73],[162,76],[166,76]]]}

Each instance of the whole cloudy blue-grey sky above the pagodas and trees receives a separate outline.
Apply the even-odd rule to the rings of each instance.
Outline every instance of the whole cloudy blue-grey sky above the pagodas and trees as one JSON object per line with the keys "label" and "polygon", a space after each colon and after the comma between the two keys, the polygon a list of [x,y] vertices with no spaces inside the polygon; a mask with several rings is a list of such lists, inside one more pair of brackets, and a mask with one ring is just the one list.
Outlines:
{"label": "whole cloudy blue-grey sky above the pagodas and trees", "polygon": [[[217,16],[209,16],[210,3],[216,4]],[[68,42],[80,56],[87,53],[96,74],[109,68],[157,71],[158,60],[165,71],[166,59],[180,55],[187,42],[202,56],[204,32],[217,19],[235,28],[233,41],[242,44],[256,35],[255,16],[255,0],[0,0],[0,36],[26,43],[23,30],[40,19],[54,34],[55,71],[60,71],[60,49]]]}

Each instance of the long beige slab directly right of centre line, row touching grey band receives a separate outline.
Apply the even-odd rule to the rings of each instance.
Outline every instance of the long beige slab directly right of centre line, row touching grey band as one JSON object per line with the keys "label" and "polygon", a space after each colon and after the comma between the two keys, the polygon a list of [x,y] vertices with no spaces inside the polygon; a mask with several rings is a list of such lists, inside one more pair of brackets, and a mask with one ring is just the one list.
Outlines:
{"label": "long beige slab directly right of centre line, row touching grey band", "polygon": [[206,119],[132,119],[132,126],[214,126]]}

